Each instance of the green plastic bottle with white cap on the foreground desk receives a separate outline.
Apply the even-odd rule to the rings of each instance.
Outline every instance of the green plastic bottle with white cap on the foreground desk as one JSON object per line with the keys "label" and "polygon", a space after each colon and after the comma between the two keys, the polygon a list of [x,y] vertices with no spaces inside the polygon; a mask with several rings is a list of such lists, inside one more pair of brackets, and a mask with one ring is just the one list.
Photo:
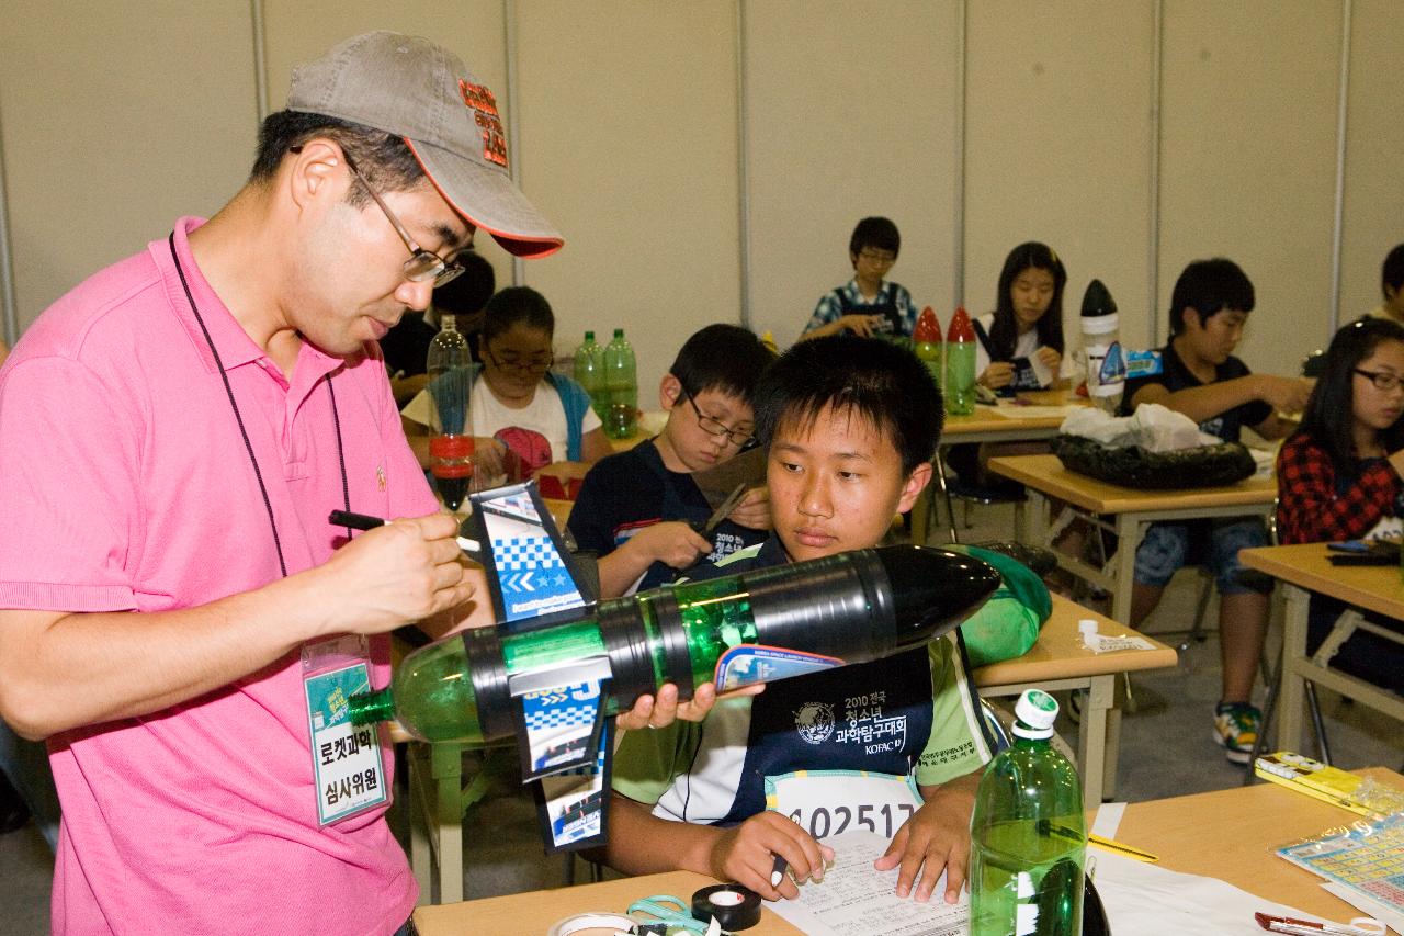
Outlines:
{"label": "green plastic bottle with white cap on the foreground desk", "polygon": [[1014,745],[986,767],[970,817],[970,936],[1080,936],[1082,786],[1049,742],[1057,701],[1029,689],[1014,711]]}

